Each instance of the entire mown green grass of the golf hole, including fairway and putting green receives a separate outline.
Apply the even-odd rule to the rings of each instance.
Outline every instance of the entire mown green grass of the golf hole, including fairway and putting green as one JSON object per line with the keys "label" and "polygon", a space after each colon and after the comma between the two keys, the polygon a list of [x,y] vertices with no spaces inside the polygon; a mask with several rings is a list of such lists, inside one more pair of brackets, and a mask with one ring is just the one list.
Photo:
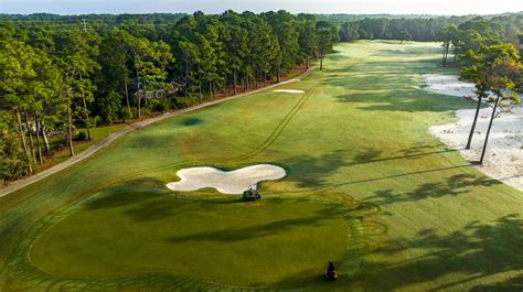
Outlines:
{"label": "entire mown green grass of the golf hole, including fairway and putting green", "polygon": [[[473,107],[420,89],[431,43],[337,46],[300,83],[163,120],[0,199],[0,290],[515,290],[523,194],[428,133]],[[238,203],[175,172],[275,163]],[[324,282],[329,258],[338,282]]]}

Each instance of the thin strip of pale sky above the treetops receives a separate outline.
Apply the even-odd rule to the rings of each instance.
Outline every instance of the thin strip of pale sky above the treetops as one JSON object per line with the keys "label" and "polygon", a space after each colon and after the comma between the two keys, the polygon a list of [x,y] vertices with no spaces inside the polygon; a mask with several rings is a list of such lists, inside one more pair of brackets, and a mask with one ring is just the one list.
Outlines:
{"label": "thin strip of pale sky above the treetops", "polygon": [[201,10],[350,14],[495,14],[523,11],[523,0],[0,0],[0,13],[151,13]]}

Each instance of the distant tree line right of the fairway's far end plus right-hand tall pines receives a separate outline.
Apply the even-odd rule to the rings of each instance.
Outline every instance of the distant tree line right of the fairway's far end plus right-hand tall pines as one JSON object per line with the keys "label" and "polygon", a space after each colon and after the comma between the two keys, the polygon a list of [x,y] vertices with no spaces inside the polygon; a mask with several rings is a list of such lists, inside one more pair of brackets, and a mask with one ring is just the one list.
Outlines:
{"label": "distant tree line right of the fairway's far end plus right-hand tall pines", "polygon": [[[332,22],[353,15],[331,15]],[[460,69],[476,85],[477,109],[466,149],[470,149],[483,104],[492,107],[481,155],[483,163],[493,120],[521,102],[523,93],[523,12],[490,17],[355,18],[341,22],[339,39],[440,42],[441,64]]]}

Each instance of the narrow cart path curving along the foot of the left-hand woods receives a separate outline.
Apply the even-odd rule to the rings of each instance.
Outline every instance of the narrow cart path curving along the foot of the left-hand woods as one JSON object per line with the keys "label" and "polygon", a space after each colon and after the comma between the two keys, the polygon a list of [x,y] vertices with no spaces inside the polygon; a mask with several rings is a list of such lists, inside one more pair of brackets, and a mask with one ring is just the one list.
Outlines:
{"label": "narrow cart path curving along the foot of the left-hand woods", "polygon": [[221,99],[216,99],[216,100],[211,100],[211,101],[207,101],[207,102],[203,102],[203,104],[200,104],[200,105],[196,105],[196,106],[193,106],[193,107],[189,107],[189,108],[184,108],[184,109],[180,109],[180,110],[173,110],[173,111],[164,112],[161,116],[153,117],[153,118],[150,118],[150,119],[146,119],[146,120],[129,125],[129,126],[125,127],[124,129],[118,130],[118,131],[109,134],[109,137],[107,137],[106,139],[104,139],[100,142],[92,145],[87,150],[85,150],[85,151],[81,152],[79,154],[68,159],[67,161],[64,161],[64,162],[62,162],[62,163],[60,163],[60,164],[57,164],[57,165],[55,165],[51,169],[47,169],[47,170],[45,170],[43,172],[40,172],[35,175],[32,175],[32,176],[29,176],[26,179],[17,181],[17,182],[14,182],[14,183],[12,183],[12,184],[3,187],[3,188],[0,188],[0,197],[7,196],[7,195],[20,190],[20,188],[23,188],[23,187],[25,187],[30,184],[39,182],[39,181],[41,181],[41,180],[43,180],[43,179],[45,179],[45,177],[47,177],[52,174],[55,174],[55,173],[57,173],[62,170],[67,169],[68,166],[73,165],[73,164],[76,164],[76,163],[87,159],[88,156],[95,154],[96,152],[98,152],[103,148],[109,145],[116,139],[118,139],[119,137],[121,137],[121,136],[124,136],[128,132],[131,132],[131,131],[137,130],[137,129],[141,129],[141,128],[147,127],[147,126],[149,126],[153,122],[161,121],[161,120],[164,120],[164,119],[168,119],[168,118],[171,118],[171,117],[175,117],[175,116],[179,116],[179,115],[182,115],[182,113],[185,113],[185,112],[194,111],[194,110],[198,110],[198,109],[201,109],[201,108],[214,106],[214,105],[222,104],[222,102],[233,100],[233,99],[236,99],[236,98],[241,98],[241,97],[249,96],[249,95],[253,95],[253,94],[262,93],[262,91],[265,91],[265,90],[268,90],[268,89],[271,89],[271,88],[276,88],[276,87],[281,86],[281,85],[298,82],[298,80],[302,79],[303,77],[306,77],[307,75],[309,75],[309,73],[311,73],[313,69],[314,69],[314,67],[310,67],[309,69],[307,69],[306,72],[303,72],[302,74],[300,74],[299,76],[297,76],[295,78],[291,78],[291,79],[288,79],[288,80],[285,80],[285,82],[280,82],[280,83],[277,83],[277,84],[274,84],[274,85],[269,85],[269,86],[266,86],[264,88],[259,88],[259,89],[256,89],[256,90],[253,90],[253,91],[248,91],[248,93],[244,93],[244,94],[239,94],[239,95],[235,95],[235,96],[231,96],[231,97],[226,97],[226,98],[221,98]]}

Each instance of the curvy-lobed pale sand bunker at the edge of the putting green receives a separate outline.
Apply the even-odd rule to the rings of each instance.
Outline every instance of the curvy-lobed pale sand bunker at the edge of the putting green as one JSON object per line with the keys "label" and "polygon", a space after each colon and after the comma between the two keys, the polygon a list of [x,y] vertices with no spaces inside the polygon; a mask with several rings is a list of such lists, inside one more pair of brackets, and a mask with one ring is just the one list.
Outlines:
{"label": "curvy-lobed pale sand bunker at the edge of the putting green", "polygon": [[284,169],[271,164],[257,164],[239,170],[224,172],[214,167],[191,167],[177,172],[180,182],[168,183],[172,191],[190,192],[204,187],[214,187],[223,194],[242,194],[250,185],[262,181],[285,177]]}

